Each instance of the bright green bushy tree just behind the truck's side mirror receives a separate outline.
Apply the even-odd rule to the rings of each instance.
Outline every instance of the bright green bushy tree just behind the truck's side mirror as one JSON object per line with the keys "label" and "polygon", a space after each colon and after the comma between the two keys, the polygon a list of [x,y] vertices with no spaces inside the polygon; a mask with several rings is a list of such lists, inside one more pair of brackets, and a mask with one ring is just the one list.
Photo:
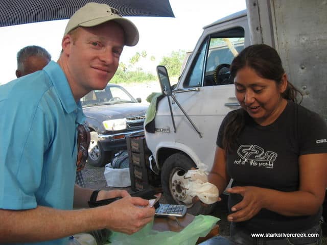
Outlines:
{"label": "bright green bushy tree just behind the truck's side mirror", "polygon": [[164,56],[162,57],[162,60],[160,61],[159,65],[166,66],[170,76],[176,77],[179,76],[179,72],[183,63],[183,60],[185,58],[185,51],[179,50],[179,51],[172,51],[170,56]]}

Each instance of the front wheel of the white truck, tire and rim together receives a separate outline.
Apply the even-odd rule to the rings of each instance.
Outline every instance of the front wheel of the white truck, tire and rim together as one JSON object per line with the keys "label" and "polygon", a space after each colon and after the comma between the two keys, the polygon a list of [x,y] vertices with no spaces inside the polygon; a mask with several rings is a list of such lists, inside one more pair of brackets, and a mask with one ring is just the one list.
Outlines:
{"label": "front wheel of the white truck, tire and rim together", "polygon": [[196,167],[195,163],[182,153],[175,153],[168,157],[161,169],[162,190],[169,204],[186,205],[188,213],[193,215],[209,214],[214,209],[215,204],[208,205],[208,207],[203,207],[200,202],[193,204],[193,197],[184,188],[183,175],[192,167]]}

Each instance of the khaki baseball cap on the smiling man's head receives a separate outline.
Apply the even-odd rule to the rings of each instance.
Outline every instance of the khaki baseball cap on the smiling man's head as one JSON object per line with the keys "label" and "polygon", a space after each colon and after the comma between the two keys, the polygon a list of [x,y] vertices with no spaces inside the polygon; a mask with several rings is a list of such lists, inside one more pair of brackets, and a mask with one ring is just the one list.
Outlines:
{"label": "khaki baseball cap on the smiling man's head", "polygon": [[118,10],[106,4],[88,3],[77,10],[69,19],[65,33],[78,27],[95,27],[104,22],[113,20],[124,29],[125,45],[135,46],[138,42],[138,30],[129,19],[123,18]]}

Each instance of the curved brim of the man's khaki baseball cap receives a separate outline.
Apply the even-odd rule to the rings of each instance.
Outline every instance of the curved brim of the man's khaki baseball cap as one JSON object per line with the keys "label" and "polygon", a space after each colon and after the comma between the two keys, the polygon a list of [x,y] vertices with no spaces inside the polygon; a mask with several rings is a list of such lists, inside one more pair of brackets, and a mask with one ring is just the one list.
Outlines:
{"label": "curved brim of the man's khaki baseball cap", "polygon": [[105,23],[107,21],[115,21],[120,26],[124,29],[124,37],[125,37],[125,45],[127,46],[135,46],[138,42],[139,35],[138,35],[138,30],[133,24],[132,21],[126,19],[126,18],[112,18],[112,17],[101,17],[93,20],[89,20],[83,23],[80,23],[80,27],[95,27],[98,26],[99,24]]}

